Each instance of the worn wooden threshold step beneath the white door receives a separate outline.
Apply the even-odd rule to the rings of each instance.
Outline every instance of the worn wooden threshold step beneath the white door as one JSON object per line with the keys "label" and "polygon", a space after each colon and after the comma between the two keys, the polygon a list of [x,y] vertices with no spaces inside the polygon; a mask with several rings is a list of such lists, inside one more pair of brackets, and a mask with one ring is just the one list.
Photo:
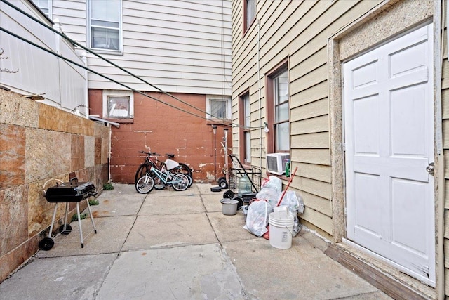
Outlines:
{"label": "worn wooden threshold step beneath the white door", "polygon": [[351,247],[350,244],[330,244],[324,253],[393,299],[436,299],[433,287]]}

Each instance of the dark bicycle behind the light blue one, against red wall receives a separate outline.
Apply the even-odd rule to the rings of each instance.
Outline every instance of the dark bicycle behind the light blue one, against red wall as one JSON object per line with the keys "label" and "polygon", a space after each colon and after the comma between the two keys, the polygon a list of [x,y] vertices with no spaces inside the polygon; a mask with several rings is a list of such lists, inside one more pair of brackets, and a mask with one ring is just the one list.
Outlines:
{"label": "dark bicycle behind the light blue one, against red wall", "polygon": [[[162,171],[162,169],[166,166],[166,162],[162,162],[157,159],[157,157],[160,156],[158,153],[145,152],[145,151],[138,151],[138,152],[146,154],[147,157],[145,158],[145,162],[140,164],[137,171],[135,172],[134,183],[137,183],[138,179],[144,176],[149,171],[150,161],[154,162],[155,167],[159,169],[159,171]],[[166,154],[166,156],[168,157],[168,159],[172,159],[173,157],[175,157],[174,154]],[[167,168],[165,167],[165,169]],[[174,169],[170,169],[170,172],[173,174],[182,173],[187,175],[187,177],[189,178],[189,187],[192,186],[193,183],[192,169],[190,169],[189,166],[187,166],[187,164],[178,163],[178,165]],[[155,183],[156,190],[161,190],[165,187],[165,185],[163,185],[161,182],[158,182],[159,178],[154,179],[156,180]]]}

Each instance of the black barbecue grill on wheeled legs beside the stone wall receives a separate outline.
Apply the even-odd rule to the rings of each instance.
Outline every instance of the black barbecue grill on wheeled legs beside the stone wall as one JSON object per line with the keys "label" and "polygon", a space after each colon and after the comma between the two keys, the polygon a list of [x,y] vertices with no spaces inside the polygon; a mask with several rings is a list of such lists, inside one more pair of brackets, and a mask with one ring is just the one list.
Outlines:
{"label": "black barbecue grill on wheeled legs beside the stone wall", "polygon": [[[57,183],[55,186],[44,190],[46,200],[51,203],[55,203],[55,210],[53,211],[53,218],[51,219],[50,232],[48,237],[43,238],[39,242],[39,247],[43,250],[50,250],[55,242],[51,238],[51,233],[53,232],[53,225],[55,223],[56,210],[58,208],[58,203],[65,202],[65,217],[64,224],[59,228],[59,232],[62,235],[68,235],[72,232],[72,226],[67,224],[67,214],[69,212],[69,202],[76,202],[76,215],[78,216],[79,224],[79,236],[81,238],[81,248],[84,247],[83,242],[83,230],[81,229],[81,217],[79,214],[79,202],[86,200],[89,215],[91,216],[92,226],[95,233],[97,233],[97,228],[95,228],[95,223],[93,222],[93,216],[91,211],[91,206],[88,202],[88,197],[97,195],[95,190],[95,185],[91,182],[78,182],[78,178],[75,176],[70,176],[69,182]],[[45,184],[44,184],[45,187]]]}

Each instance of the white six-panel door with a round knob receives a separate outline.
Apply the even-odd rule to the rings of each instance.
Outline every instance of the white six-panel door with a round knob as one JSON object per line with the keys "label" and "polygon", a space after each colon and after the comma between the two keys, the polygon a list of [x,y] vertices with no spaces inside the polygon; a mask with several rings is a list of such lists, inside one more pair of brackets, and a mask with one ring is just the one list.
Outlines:
{"label": "white six-panel door with a round knob", "polygon": [[347,238],[435,282],[432,27],[343,65]]}

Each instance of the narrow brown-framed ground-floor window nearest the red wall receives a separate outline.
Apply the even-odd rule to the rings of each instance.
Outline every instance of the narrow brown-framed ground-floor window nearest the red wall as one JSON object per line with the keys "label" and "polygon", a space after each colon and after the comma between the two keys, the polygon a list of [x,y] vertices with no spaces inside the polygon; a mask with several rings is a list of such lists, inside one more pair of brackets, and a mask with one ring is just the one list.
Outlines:
{"label": "narrow brown-framed ground-floor window nearest the red wall", "polygon": [[251,163],[251,118],[250,118],[250,93],[245,93],[240,97],[239,103],[239,125],[240,125],[240,157],[245,164]]}

